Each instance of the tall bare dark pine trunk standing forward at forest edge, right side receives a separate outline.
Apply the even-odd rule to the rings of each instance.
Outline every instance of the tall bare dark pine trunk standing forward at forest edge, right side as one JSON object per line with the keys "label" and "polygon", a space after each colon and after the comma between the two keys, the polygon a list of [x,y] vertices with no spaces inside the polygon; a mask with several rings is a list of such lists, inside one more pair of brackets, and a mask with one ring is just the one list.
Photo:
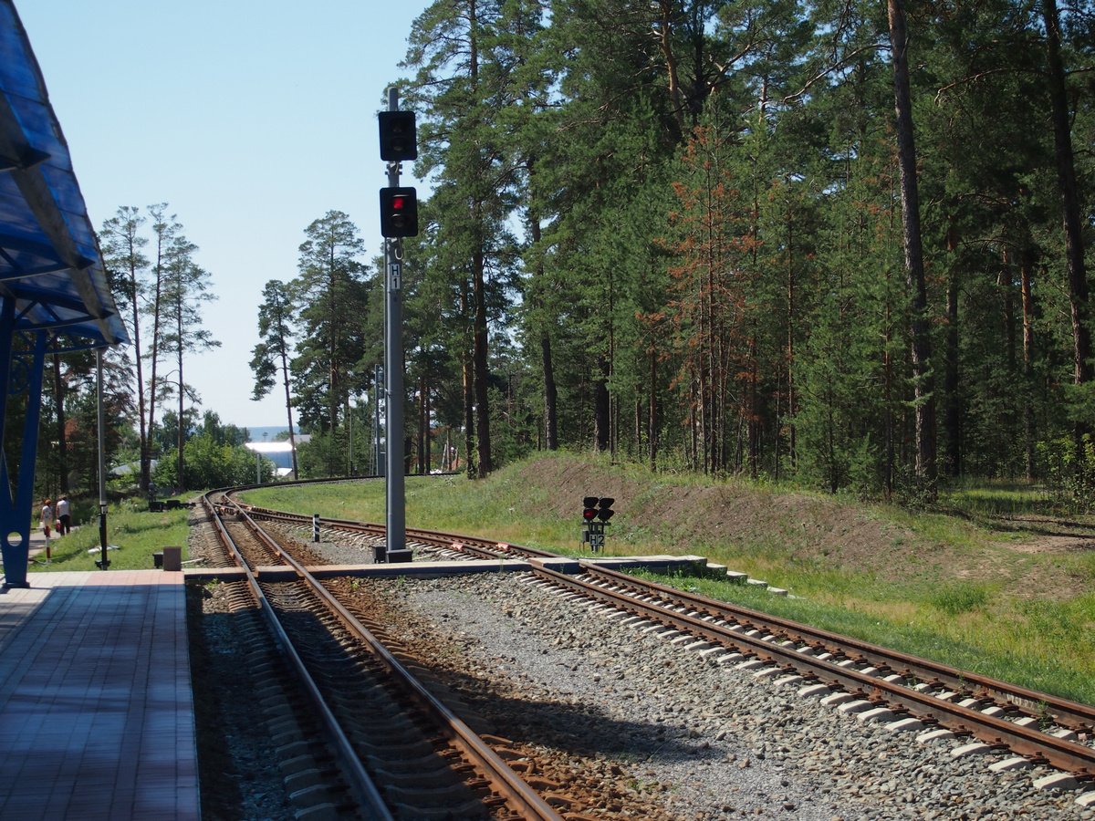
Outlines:
{"label": "tall bare dark pine trunk standing forward at forest edge, right side", "polygon": [[898,164],[901,173],[901,228],[904,271],[912,305],[912,380],[915,413],[915,472],[930,498],[935,495],[935,400],[932,343],[929,335],[927,288],[920,233],[920,194],[917,184],[917,149],[912,131],[912,99],[909,90],[909,38],[901,0],[887,0],[890,46],[894,56],[894,100],[897,115]]}

